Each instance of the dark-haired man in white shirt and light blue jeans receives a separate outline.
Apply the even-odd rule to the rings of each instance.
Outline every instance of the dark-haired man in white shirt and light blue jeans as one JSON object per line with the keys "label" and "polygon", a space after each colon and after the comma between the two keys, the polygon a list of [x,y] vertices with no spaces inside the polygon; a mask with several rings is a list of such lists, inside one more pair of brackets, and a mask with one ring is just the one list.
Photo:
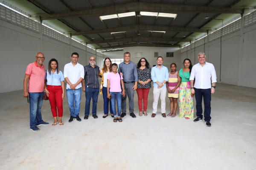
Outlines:
{"label": "dark-haired man in white shirt and light blue jeans", "polygon": [[71,55],[71,60],[72,61],[70,63],[67,63],[64,66],[64,78],[67,82],[67,103],[68,107],[70,108],[70,119],[68,122],[73,122],[73,119],[80,122],[81,119],[79,118],[79,112],[81,103],[81,82],[84,79],[84,67],[78,63],[78,53],[73,53]]}

